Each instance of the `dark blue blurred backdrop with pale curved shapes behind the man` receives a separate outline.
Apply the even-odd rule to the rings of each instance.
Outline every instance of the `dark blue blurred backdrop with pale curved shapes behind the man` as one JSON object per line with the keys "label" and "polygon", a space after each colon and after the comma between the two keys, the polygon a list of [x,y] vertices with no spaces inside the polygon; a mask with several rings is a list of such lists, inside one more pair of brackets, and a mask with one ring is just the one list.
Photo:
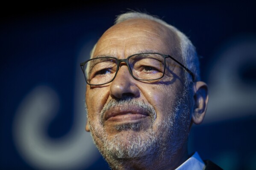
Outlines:
{"label": "dark blue blurred backdrop with pale curved shapes behind the man", "polygon": [[225,170],[256,169],[255,3],[95,1],[9,3],[0,22],[0,169],[108,169],[85,132],[79,63],[115,15],[158,15],[184,32],[209,84],[203,124],[189,152]]}

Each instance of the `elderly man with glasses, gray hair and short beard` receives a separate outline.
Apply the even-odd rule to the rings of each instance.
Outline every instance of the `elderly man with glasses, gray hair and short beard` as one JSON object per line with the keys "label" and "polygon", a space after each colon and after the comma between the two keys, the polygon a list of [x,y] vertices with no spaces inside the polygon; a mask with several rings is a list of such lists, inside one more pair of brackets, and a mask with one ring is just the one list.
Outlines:
{"label": "elderly man with glasses, gray hair and short beard", "polygon": [[221,169],[187,152],[203,121],[207,85],[194,46],[148,14],[121,14],[81,63],[94,143],[112,169]]}

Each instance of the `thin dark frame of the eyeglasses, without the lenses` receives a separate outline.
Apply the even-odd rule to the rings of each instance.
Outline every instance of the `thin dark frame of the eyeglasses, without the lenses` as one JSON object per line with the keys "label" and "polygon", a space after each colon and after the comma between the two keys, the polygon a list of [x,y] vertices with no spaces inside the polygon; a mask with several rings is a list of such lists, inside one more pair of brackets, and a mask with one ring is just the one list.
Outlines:
{"label": "thin dark frame of the eyeglasses, without the lenses", "polygon": [[[157,52],[146,52],[146,53],[133,54],[133,55],[130,55],[129,57],[127,57],[127,58],[125,58],[125,59],[118,59],[118,58],[115,58],[115,57],[106,56],[107,58],[113,58],[113,59],[115,59],[115,60],[117,61],[117,69],[116,69],[116,72],[115,72],[115,76],[112,78],[112,80],[109,81],[109,82],[107,82],[107,83],[103,83],[103,84],[108,84],[108,83],[114,81],[114,79],[115,79],[115,77],[116,77],[116,75],[117,75],[117,73],[118,73],[119,65],[120,65],[121,62],[125,62],[125,63],[126,63],[128,69],[129,69],[130,74],[132,75],[132,77],[133,77],[135,80],[140,80],[140,81],[153,81],[153,80],[158,80],[158,79],[163,78],[164,75],[165,75],[165,64],[166,64],[166,61],[165,61],[165,64],[164,64],[163,75],[162,75],[162,77],[160,77],[160,78],[150,79],[150,80],[142,80],[142,79],[136,78],[136,77],[132,74],[132,70],[131,70],[131,68],[130,68],[130,66],[129,66],[129,63],[128,63],[129,58],[131,58],[131,57],[134,56],[134,55],[142,55],[142,54],[158,54],[158,55],[162,55],[162,57],[163,57],[164,59],[166,59],[166,58],[171,58],[171,59],[174,60],[176,63],[178,63],[180,66],[182,66],[182,67],[192,76],[192,80],[195,81],[195,75],[194,75],[194,73],[191,72],[191,70],[188,69],[187,67],[185,67],[182,63],[180,63],[180,62],[177,61],[175,58],[173,58],[171,55],[168,55],[168,54],[161,54],[161,53],[157,53]],[[99,58],[106,58],[106,57],[99,57]],[[82,72],[83,72],[84,76],[85,76],[85,69],[84,69],[84,68],[85,68],[85,63],[87,63],[88,61],[91,61],[91,60],[95,60],[95,59],[97,59],[97,58],[91,58],[91,59],[89,59],[89,60],[87,60],[87,61],[85,61],[85,62],[80,63],[80,67],[81,67],[81,69],[82,69]],[[103,85],[103,84],[90,84],[90,83],[88,83],[88,81],[86,80],[86,76],[85,76],[85,81],[86,81],[87,84],[89,84],[89,85],[91,85],[91,86],[100,86],[100,85]]]}

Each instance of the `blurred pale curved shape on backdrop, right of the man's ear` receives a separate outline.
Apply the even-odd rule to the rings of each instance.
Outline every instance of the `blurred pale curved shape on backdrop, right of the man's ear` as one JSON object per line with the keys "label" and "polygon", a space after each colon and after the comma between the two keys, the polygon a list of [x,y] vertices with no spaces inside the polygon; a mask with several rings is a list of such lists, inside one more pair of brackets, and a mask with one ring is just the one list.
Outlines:
{"label": "blurred pale curved shape on backdrop, right of the man's ear", "polygon": [[209,105],[204,123],[255,114],[256,86],[243,80],[241,69],[250,71],[248,67],[256,67],[256,37],[237,37],[215,57],[217,62],[212,63],[209,75]]}

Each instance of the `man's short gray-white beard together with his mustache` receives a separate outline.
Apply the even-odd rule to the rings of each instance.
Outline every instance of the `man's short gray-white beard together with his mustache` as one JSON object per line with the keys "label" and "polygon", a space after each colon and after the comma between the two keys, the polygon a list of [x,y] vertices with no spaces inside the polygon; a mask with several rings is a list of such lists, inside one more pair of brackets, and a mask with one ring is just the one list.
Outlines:
{"label": "man's short gray-white beard together with his mustache", "polygon": [[[111,138],[107,138],[105,130],[100,130],[100,128],[94,126],[88,120],[94,143],[103,157],[106,158],[106,161],[115,169],[118,169],[118,164],[122,164],[122,160],[130,158],[143,158],[143,164],[150,164],[154,158],[162,161],[163,159],[171,161],[177,150],[188,139],[190,116],[186,104],[187,96],[188,91],[184,90],[181,95],[177,96],[174,108],[167,107],[165,109],[172,110],[173,112],[165,114],[167,116],[161,121],[161,124],[154,125],[157,132],[152,128],[139,130],[139,124],[128,124],[115,127],[120,132]],[[117,103],[124,102],[147,107],[150,110],[150,117],[152,118],[151,127],[153,127],[156,120],[156,112],[151,105],[144,102],[138,103],[135,99],[130,98],[121,102],[118,101]],[[107,109],[114,107],[117,103],[113,101],[110,104],[105,104],[101,112],[101,118]]]}

